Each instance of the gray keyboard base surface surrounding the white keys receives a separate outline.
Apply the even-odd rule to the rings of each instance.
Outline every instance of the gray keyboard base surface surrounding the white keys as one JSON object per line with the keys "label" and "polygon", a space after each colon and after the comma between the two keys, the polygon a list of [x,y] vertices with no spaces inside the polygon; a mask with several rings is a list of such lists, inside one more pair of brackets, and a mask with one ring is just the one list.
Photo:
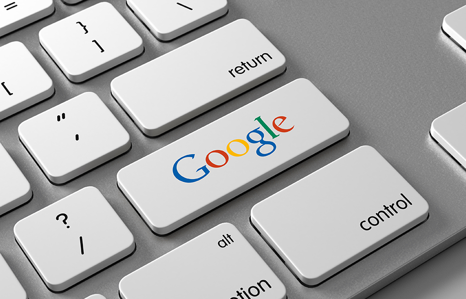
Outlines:
{"label": "gray keyboard base surface surrounding the white keys", "polygon": [[[56,87],[52,99],[0,123],[0,142],[34,190],[30,203],[0,218],[0,253],[30,299],[82,299],[95,293],[117,299],[118,282],[124,275],[222,222],[233,223],[245,235],[284,282],[289,299],[366,297],[466,235],[463,216],[466,172],[429,136],[434,118],[465,101],[466,53],[440,31],[443,17],[465,5],[465,1],[230,0],[230,11],[224,18],[173,42],[161,43],[144,28],[123,0],[112,0],[110,2],[143,37],[145,53],[95,79],[75,85],[66,80],[39,46],[37,33],[44,26],[97,2],[100,1],[87,0],[76,6],[66,6],[55,0],[54,15],[0,38],[0,46],[14,40],[26,44]],[[287,72],[161,137],[144,137],[110,97],[111,79],[239,18],[249,19],[282,51],[287,58]],[[182,66],[174,67],[182,71]],[[166,237],[153,235],[116,188],[117,171],[300,77],[314,82],[348,117],[351,135],[178,232]],[[22,121],[86,91],[97,93],[107,104],[130,133],[133,149],[65,186],[53,186],[21,146],[17,127]],[[157,88],[154,88],[154,97],[156,95]],[[320,287],[305,288],[251,228],[251,207],[365,144],[375,147],[424,196],[430,204],[430,219]],[[70,291],[52,294],[16,245],[13,226],[85,186],[95,186],[104,194],[135,235],[138,249],[129,259]],[[466,278],[465,246],[466,241],[463,241],[374,298],[434,298],[429,297],[433,294],[436,298],[457,298],[461,293],[455,295],[454,292],[465,288],[461,283]],[[179,283],[182,287],[183,282]]]}

